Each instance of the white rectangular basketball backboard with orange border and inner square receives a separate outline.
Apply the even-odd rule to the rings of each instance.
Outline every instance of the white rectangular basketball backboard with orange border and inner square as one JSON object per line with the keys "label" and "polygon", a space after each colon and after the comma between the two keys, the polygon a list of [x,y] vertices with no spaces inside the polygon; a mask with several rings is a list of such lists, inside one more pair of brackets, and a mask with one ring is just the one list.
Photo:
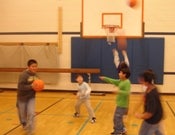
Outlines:
{"label": "white rectangular basketball backboard with orange border and inner square", "polygon": [[119,26],[128,38],[141,38],[143,0],[137,0],[135,7],[128,0],[82,0],[82,37],[106,37],[105,25]]}

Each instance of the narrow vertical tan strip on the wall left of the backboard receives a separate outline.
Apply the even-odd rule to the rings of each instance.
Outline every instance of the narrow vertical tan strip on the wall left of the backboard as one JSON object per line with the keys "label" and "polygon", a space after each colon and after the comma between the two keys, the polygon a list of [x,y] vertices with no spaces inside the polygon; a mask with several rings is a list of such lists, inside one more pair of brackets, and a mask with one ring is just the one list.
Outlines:
{"label": "narrow vertical tan strip on the wall left of the backboard", "polygon": [[63,29],[63,9],[62,7],[58,7],[58,53],[62,53],[62,29]]}

